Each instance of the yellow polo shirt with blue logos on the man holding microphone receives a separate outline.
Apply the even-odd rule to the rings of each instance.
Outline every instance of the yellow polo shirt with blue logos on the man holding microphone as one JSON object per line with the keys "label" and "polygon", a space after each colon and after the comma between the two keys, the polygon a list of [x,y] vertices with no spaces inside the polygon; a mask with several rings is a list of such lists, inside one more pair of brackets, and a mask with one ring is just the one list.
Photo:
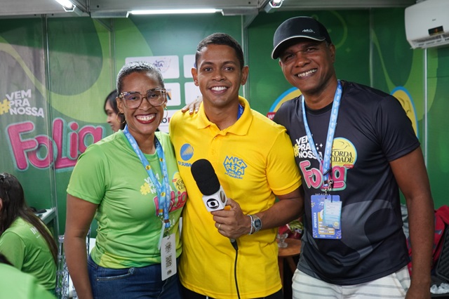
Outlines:
{"label": "yellow polo shirt with blue logos on the man holding microphone", "polygon": [[[227,197],[237,201],[244,214],[267,210],[274,205],[275,194],[288,194],[301,185],[286,129],[250,109],[246,99],[239,101],[243,114],[225,130],[207,119],[202,105],[197,114],[177,112],[170,119],[177,166],[189,194],[183,211],[180,279],[186,288],[212,298],[236,298],[236,251],[217,232],[203,204],[190,171],[194,161],[210,161]],[[237,243],[241,298],[279,291],[276,229],[243,235]]]}

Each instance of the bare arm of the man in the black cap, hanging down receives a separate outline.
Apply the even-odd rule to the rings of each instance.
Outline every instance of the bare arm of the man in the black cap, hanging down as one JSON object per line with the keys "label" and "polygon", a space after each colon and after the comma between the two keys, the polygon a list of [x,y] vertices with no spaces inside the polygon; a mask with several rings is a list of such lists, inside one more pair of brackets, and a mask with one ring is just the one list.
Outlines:
{"label": "bare arm of the man in the black cap, hanging down", "polygon": [[406,298],[430,298],[434,201],[421,148],[390,162],[394,177],[406,197],[410,220],[413,272]]}

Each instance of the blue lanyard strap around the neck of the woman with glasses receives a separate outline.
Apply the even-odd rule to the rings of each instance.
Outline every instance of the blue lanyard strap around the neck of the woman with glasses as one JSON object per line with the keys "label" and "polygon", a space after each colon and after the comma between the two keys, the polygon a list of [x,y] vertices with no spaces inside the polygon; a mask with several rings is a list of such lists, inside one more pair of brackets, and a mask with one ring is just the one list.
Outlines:
{"label": "blue lanyard strap around the neck of the woman with glasses", "polygon": [[170,209],[170,183],[168,182],[166,157],[163,153],[161,142],[159,142],[156,136],[154,136],[156,153],[159,158],[159,164],[161,165],[161,171],[163,175],[163,184],[161,184],[161,182],[159,182],[159,180],[156,178],[156,175],[154,175],[154,172],[152,171],[147,158],[143,154],[142,150],[140,150],[138,142],[136,142],[133,135],[129,133],[128,125],[126,125],[123,129],[123,133],[125,134],[126,139],[128,139],[131,147],[133,147],[134,152],[138,155],[140,162],[149,175],[149,179],[152,180],[152,182],[156,186],[156,191],[158,194],[157,200],[159,201],[159,211],[157,211],[157,213],[159,216],[163,216],[163,222],[165,223],[166,229],[168,229],[170,227],[170,218],[168,215],[168,211]]}

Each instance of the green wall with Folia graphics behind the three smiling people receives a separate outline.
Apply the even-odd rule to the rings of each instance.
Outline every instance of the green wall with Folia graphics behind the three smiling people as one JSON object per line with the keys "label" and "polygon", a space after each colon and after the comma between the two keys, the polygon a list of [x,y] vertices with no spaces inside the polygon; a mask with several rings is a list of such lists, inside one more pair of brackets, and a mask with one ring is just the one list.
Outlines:
{"label": "green wall with Folia graphics behind the three smiling people", "polygon": [[260,13],[248,27],[244,18],[218,14],[102,22],[0,19],[0,172],[18,176],[29,205],[58,206],[63,233],[69,176],[86,146],[112,133],[103,102],[126,61],[149,59],[163,70],[173,95],[166,128],[170,115],[198,93],[189,74],[196,44],[213,32],[229,33],[243,44],[250,67],[241,93],[270,117],[297,95],[270,58],[276,27],[296,15],[313,16],[328,27],[339,79],[401,100],[427,157],[435,206],[446,204],[449,47],[410,49],[399,8]]}

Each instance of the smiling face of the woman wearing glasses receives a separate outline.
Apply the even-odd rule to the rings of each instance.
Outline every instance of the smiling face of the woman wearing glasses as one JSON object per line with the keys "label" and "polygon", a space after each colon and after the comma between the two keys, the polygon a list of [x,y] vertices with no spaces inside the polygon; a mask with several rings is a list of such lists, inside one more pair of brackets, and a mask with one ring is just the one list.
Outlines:
{"label": "smiling face of the woman wearing glasses", "polygon": [[[132,72],[123,77],[119,93],[136,91],[146,95],[150,89],[162,87],[156,77],[154,77],[154,74],[149,72]],[[145,97],[137,108],[127,107],[125,101],[123,98],[119,98],[117,105],[119,111],[125,115],[128,130],[135,140],[145,139],[153,135],[163,119],[163,108],[166,105],[166,101],[163,105],[154,107]]]}

